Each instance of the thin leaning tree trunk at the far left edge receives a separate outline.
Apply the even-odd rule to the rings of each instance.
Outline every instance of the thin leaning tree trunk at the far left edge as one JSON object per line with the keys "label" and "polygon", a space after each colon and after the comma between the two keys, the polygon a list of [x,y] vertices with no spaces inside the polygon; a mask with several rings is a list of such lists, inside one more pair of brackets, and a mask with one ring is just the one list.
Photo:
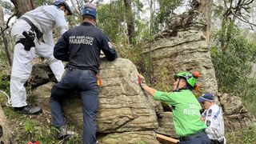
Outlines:
{"label": "thin leaning tree trunk at the far left edge", "polygon": [[[2,10],[2,4],[0,4],[0,30],[1,32],[5,30],[5,22],[3,18],[3,10]],[[2,32],[2,39],[4,43],[4,51],[6,52],[7,60],[9,62],[9,65],[12,65],[12,56],[10,54],[10,45],[8,42],[8,38],[6,38],[6,31]]]}

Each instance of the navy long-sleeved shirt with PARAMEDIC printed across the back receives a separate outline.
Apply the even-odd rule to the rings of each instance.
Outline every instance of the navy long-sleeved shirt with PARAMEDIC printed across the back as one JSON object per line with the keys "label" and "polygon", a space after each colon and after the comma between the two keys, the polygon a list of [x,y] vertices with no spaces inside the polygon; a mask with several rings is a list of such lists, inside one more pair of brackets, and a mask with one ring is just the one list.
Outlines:
{"label": "navy long-sleeved shirt with PARAMEDIC printed across the back", "polygon": [[110,47],[108,38],[89,22],[66,31],[54,46],[54,57],[67,61],[66,67],[82,70],[94,70],[98,73],[100,50],[109,61],[118,58],[114,47]]}

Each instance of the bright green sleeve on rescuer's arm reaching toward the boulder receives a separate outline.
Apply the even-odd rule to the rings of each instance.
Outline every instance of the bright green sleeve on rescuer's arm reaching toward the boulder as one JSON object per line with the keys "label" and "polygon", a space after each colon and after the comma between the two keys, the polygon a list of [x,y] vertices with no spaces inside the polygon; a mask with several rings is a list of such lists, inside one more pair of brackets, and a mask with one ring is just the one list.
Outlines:
{"label": "bright green sleeve on rescuer's arm reaching toward the boulder", "polygon": [[178,96],[174,92],[167,93],[167,92],[157,91],[154,93],[154,99],[157,101],[169,103],[170,105],[175,105],[178,102]]}

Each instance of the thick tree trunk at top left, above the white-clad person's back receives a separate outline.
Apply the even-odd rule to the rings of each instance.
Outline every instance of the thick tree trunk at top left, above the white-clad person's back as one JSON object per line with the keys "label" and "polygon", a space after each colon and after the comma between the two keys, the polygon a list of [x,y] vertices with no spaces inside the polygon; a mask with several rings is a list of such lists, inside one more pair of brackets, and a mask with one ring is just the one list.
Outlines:
{"label": "thick tree trunk at top left, above the white-clad person's back", "polygon": [[17,11],[17,17],[20,18],[22,14],[25,14],[27,11],[34,10],[34,4],[32,0],[11,0]]}

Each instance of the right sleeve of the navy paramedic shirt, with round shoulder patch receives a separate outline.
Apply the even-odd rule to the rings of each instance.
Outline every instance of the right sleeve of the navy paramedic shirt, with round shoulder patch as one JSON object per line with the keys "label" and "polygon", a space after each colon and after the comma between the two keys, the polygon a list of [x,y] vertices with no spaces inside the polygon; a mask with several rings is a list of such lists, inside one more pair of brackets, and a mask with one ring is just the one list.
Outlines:
{"label": "right sleeve of the navy paramedic shirt, with round shoulder patch", "polygon": [[102,34],[101,50],[109,61],[114,61],[115,58],[118,58],[118,52],[115,50],[114,46],[112,46],[108,38],[106,38],[105,34]]}

